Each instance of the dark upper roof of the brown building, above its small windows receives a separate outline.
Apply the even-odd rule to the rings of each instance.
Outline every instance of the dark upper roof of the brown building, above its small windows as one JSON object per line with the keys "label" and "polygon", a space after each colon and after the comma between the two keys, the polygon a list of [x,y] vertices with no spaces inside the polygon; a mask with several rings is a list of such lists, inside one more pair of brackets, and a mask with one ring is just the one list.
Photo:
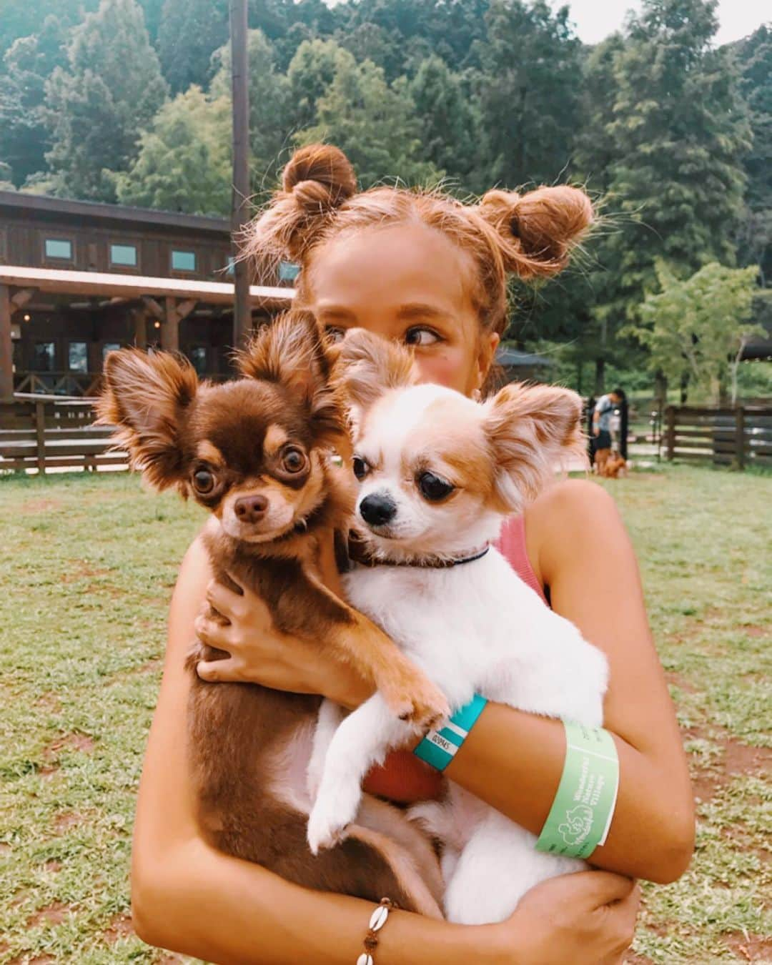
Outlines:
{"label": "dark upper roof of the brown building, above its small windows", "polygon": [[200,214],[180,214],[175,211],[156,211],[148,207],[104,205],[94,201],[69,201],[66,198],[50,198],[42,194],[25,194],[21,191],[0,191],[0,215],[3,209],[18,211],[27,216],[66,216],[73,220],[105,224],[127,223],[152,228],[178,228],[186,231],[231,234],[227,218],[211,218]]}

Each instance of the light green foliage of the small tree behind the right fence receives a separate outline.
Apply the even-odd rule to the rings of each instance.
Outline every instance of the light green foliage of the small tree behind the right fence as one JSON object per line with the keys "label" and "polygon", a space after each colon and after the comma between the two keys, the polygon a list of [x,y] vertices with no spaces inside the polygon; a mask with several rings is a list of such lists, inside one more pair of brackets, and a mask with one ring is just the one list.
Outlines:
{"label": "light green foliage of the small tree behind the right fence", "polygon": [[724,400],[748,341],[764,330],[751,320],[758,267],[705,264],[685,281],[665,262],[656,263],[660,291],[648,294],[635,336],[649,351],[649,366],[681,385],[688,380],[714,400]]}

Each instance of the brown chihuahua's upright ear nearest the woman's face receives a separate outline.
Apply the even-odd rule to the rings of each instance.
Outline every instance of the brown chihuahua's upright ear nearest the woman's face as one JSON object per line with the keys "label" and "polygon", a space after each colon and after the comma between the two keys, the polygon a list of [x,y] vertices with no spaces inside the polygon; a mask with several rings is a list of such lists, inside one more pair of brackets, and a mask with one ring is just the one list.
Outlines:
{"label": "brown chihuahua's upright ear nearest the woman's face", "polygon": [[317,442],[341,451],[347,433],[344,406],[330,382],[333,353],[311,312],[292,309],[265,325],[236,358],[247,378],[287,388],[306,408]]}

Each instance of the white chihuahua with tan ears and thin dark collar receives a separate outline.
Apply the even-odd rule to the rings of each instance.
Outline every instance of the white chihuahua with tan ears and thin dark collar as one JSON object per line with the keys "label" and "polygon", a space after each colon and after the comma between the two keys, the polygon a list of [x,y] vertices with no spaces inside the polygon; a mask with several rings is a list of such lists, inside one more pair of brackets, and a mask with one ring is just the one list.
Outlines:
{"label": "white chihuahua with tan ears and thin dark collar", "polygon": [[[409,353],[367,333],[350,333],[341,351],[361,545],[370,558],[345,576],[350,602],[454,710],[480,694],[601,725],[605,657],[490,546],[504,519],[554,476],[556,462],[583,451],[579,397],[508,385],[479,403],[416,384]],[[315,853],[353,822],[372,765],[415,733],[379,694],[345,719],[337,705],[322,705],[309,770]],[[586,867],[538,852],[534,835],[452,783],[443,801],[413,813],[441,841],[453,922],[502,921],[539,881]]]}

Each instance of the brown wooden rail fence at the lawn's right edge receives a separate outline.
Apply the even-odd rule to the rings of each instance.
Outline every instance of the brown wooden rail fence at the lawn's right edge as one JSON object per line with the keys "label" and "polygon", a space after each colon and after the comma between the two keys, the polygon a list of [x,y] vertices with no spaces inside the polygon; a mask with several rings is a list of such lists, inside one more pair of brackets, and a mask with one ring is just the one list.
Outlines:
{"label": "brown wooden rail fence at the lawn's right edge", "polygon": [[772,469],[772,407],[669,405],[664,420],[665,455],[714,465]]}

